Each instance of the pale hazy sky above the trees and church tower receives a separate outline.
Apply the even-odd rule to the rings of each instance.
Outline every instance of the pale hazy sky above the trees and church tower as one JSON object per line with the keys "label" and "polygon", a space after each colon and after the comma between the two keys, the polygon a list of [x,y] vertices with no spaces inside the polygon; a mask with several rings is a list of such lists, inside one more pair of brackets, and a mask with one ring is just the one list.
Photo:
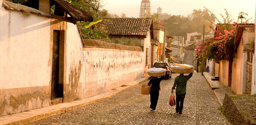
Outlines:
{"label": "pale hazy sky above the trees and church tower", "polygon": [[[103,8],[109,13],[121,15],[125,13],[128,17],[138,17],[140,12],[140,3],[142,0],[103,0],[106,4]],[[151,13],[157,12],[157,8],[162,8],[162,13],[172,15],[184,15],[192,13],[193,9],[204,9],[205,6],[211,12],[219,16],[225,14],[223,8],[226,8],[233,16],[235,21],[240,12],[248,14],[247,18],[255,18],[256,0],[150,0]],[[252,21],[252,20],[251,20]]]}

